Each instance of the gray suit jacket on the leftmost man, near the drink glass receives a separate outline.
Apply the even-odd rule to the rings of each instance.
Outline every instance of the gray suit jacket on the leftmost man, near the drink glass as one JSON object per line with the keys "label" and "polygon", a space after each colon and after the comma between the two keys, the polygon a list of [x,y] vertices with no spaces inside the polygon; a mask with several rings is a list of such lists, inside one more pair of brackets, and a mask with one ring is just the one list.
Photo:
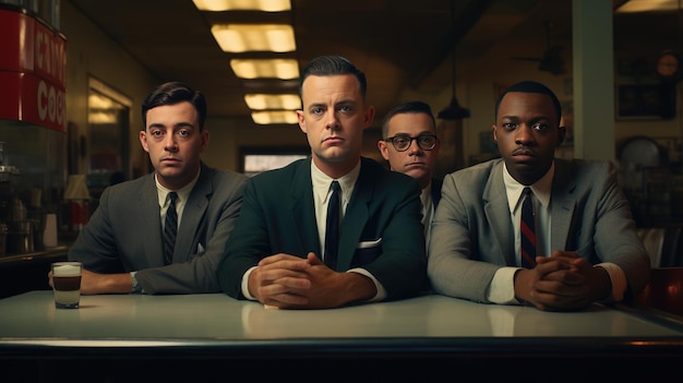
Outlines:
{"label": "gray suit jacket on the leftmost man, near the drink glass", "polygon": [[96,273],[137,271],[146,294],[220,291],[216,270],[240,213],[245,180],[202,164],[182,213],[173,263],[166,266],[154,173],[109,187],[69,259]]}

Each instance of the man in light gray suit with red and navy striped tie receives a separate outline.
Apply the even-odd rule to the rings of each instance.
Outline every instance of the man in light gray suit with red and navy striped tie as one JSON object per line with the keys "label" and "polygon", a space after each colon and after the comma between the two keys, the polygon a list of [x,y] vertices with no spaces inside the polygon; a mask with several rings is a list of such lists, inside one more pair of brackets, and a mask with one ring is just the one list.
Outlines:
{"label": "man in light gray suit with red and navy striped tie", "polygon": [[[428,275],[439,294],[486,303],[580,310],[648,282],[649,260],[610,161],[554,158],[565,130],[551,89],[520,82],[495,106],[502,159],[447,175]],[[523,266],[520,196],[530,187],[536,265]],[[532,238],[532,236],[528,236]],[[531,252],[529,252],[531,253]]]}

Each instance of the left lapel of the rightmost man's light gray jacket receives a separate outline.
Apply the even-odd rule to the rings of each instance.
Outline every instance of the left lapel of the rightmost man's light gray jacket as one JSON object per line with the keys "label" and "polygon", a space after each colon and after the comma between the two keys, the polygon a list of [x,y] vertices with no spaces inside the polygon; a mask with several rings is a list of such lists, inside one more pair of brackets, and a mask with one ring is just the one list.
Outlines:
{"label": "left lapel of the rightmost man's light gray jacket", "polygon": [[[483,191],[483,210],[487,215],[487,222],[491,225],[491,230],[495,237],[499,252],[498,254],[489,254],[491,261],[504,263],[506,265],[515,264],[514,243],[512,235],[512,224],[510,223],[510,207],[507,205],[507,194],[505,192],[505,182],[503,182],[503,161],[500,161],[492,170],[492,175],[487,182]],[[496,260],[494,258],[498,258]]]}

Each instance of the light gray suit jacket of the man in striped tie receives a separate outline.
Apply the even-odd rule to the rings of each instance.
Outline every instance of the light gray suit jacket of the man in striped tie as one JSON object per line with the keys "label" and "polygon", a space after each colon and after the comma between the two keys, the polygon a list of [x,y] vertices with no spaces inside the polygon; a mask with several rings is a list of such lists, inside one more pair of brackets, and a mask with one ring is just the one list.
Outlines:
{"label": "light gray suit jacket of the man in striped tie", "polygon": [[[480,302],[495,272],[515,264],[514,229],[503,160],[445,177],[432,222],[428,275],[439,294]],[[555,159],[550,200],[551,249],[576,251],[590,263],[619,265],[631,296],[649,279],[649,260],[609,161]]]}

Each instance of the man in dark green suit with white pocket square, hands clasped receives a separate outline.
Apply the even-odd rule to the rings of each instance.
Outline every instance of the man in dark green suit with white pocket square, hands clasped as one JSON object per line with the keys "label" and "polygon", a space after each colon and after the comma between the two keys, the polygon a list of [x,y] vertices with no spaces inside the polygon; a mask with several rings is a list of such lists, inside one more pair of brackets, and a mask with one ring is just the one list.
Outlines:
{"label": "man in dark green suit with white pocket square, hands clasped", "polygon": [[[342,57],[319,57],[303,70],[297,115],[311,157],[248,181],[218,268],[229,296],[324,309],[406,298],[424,286],[418,182],[361,157],[363,130],[374,117],[366,88],[364,74]],[[342,194],[339,241],[325,250],[335,182]]]}

